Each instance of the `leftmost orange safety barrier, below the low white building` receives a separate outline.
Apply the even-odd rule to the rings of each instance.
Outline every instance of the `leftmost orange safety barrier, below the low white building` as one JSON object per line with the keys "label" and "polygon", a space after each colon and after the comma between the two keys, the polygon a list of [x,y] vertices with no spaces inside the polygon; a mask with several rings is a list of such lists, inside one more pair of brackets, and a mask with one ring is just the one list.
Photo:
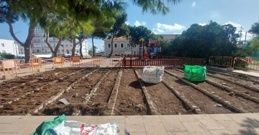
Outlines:
{"label": "leftmost orange safety barrier, below the low white building", "polygon": [[[5,69],[7,69],[8,73],[11,72],[13,73],[13,68],[15,69],[15,73],[17,76],[17,67],[16,67],[16,61],[17,60],[2,60],[1,65],[2,65],[2,71],[3,74],[5,75]],[[0,72],[1,73],[1,72]]]}

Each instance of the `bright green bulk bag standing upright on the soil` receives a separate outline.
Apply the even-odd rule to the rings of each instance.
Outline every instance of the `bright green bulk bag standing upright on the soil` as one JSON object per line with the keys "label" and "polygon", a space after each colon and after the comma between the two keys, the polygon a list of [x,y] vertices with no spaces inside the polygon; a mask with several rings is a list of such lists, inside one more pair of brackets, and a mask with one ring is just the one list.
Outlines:
{"label": "bright green bulk bag standing upright on the soil", "polygon": [[206,80],[206,67],[205,66],[191,66],[184,65],[183,78],[189,81],[205,81]]}

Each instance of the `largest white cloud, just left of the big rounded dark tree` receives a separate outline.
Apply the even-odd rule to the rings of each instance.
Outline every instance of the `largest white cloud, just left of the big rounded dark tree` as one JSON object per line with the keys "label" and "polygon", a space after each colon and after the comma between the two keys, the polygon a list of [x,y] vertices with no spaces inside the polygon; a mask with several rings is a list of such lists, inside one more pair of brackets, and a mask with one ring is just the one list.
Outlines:
{"label": "largest white cloud, just left of the big rounded dark tree", "polygon": [[184,30],[186,27],[180,24],[175,23],[174,25],[156,23],[155,28],[153,28],[153,32],[155,34],[165,33],[165,32],[174,32],[179,30]]}

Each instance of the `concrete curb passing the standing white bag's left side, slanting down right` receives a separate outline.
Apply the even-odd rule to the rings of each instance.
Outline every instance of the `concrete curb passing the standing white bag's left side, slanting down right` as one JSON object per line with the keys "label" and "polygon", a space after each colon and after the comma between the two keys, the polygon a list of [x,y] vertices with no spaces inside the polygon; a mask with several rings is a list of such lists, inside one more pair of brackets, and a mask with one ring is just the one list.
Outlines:
{"label": "concrete curb passing the standing white bag's left side, slanting down right", "polygon": [[143,93],[145,95],[145,99],[146,99],[146,102],[147,102],[147,105],[148,105],[148,108],[150,110],[151,115],[159,115],[159,113],[156,111],[156,108],[153,106],[153,103],[150,99],[150,96],[149,96],[149,94],[148,94],[148,92],[145,88],[145,85],[144,85],[143,81],[141,80],[140,75],[138,74],[137,70],[134,70],[134,71],[135,71],[135,74],[137,76],[138,82],[141,85]]}

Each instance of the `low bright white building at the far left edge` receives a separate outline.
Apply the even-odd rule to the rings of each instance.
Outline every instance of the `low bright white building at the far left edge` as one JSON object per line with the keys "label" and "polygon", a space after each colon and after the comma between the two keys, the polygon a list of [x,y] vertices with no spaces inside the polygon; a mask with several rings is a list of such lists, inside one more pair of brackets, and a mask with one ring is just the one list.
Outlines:
{"label": "low bright white building at the far left edge", "polygon": [[17,56],[18,48],[16,46],[18,45],[15,45],[13,40],[0,39],[0,53],[11,53],[12,55]]}

